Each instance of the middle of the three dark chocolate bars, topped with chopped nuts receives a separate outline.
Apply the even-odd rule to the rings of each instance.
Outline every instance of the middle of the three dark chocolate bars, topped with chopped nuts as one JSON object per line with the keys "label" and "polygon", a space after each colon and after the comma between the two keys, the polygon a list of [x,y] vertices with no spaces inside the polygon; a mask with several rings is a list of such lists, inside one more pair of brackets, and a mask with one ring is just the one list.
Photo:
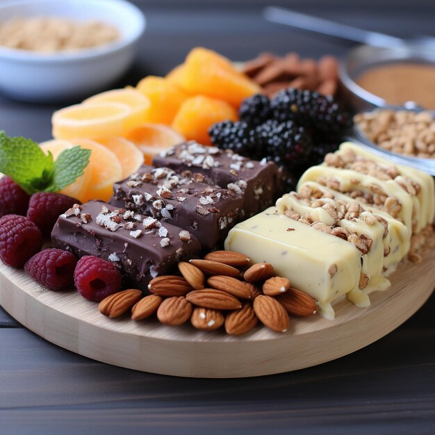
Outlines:
{"label": "middle of the three dark chocolate bars, topped with chopped nuts", "polygon": [[110,204],[186,229],[206,249],[227,237],[243,204],[240,192],[215,186],[202,174],[176,174],[167,167],[144,165],[113,190]]}

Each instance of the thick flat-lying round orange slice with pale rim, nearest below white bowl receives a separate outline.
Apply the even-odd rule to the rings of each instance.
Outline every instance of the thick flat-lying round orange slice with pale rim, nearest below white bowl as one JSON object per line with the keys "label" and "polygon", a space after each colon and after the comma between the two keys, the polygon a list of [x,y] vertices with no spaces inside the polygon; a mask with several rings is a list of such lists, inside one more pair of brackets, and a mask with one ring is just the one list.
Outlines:
{"label": "thick flat-lying round orange slice with pale rim, nearest below white bowl", "polygon": [[53,136],[56,139],[122,136],[130,115],[131,108],[126,104],[76,104],[53,114]]}

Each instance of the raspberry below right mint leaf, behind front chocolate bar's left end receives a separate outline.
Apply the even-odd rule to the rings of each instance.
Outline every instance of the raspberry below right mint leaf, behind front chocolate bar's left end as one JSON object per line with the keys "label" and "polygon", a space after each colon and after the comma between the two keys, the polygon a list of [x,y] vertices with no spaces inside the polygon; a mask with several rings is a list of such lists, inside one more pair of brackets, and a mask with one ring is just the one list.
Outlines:
{"label": "raspberry below right mint leaf, behind front chocolate bar's left end", "polygon": [[27,219],[35,222],[43,236],[49,236],[59,215],[74,204],[81,202],[60,193],[33,193],[28,204]]}

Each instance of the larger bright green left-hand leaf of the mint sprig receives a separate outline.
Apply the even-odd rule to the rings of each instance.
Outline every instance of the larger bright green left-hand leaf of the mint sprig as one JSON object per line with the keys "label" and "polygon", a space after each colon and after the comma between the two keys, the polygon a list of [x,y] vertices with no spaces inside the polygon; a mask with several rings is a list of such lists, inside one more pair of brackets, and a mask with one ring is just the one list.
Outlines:
{"label": "larger bright green left-hand leaf of the mint sprig", "polygon": [[0,172],[12,178],[29,195],[47,187],[53,170],[51,153],[44,154],[31,139],[9,138],[0,131]]}

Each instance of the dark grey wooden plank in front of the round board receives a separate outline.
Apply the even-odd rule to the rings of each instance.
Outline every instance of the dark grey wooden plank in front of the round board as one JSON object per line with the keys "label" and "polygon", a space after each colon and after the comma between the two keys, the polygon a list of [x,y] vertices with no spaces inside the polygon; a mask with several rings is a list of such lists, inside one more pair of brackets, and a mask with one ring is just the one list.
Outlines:
{"label": "dark grey wooden plank in front of the round board", "polygon": [[[252,379],[183,379],[97,363],[26,329],[0,329],[0,420],[6,433],[429,434],[435,431],[435,331],[401,327],[322,366]],[[176,363],[176,361],[174,361]],[[22,421],[31,421],[26,429]],[[30,429],[33,431],[31,432]],[[161,431],[161,432],[160,432]],[[215,431],[215,432],[213,432]],[[405,432],[402,432],[405,431]],[[59,432],[60,433],[60,432]],[[186,432],[187,433],[187,432]],[[286,432],[289,433],[289,432]]]}

